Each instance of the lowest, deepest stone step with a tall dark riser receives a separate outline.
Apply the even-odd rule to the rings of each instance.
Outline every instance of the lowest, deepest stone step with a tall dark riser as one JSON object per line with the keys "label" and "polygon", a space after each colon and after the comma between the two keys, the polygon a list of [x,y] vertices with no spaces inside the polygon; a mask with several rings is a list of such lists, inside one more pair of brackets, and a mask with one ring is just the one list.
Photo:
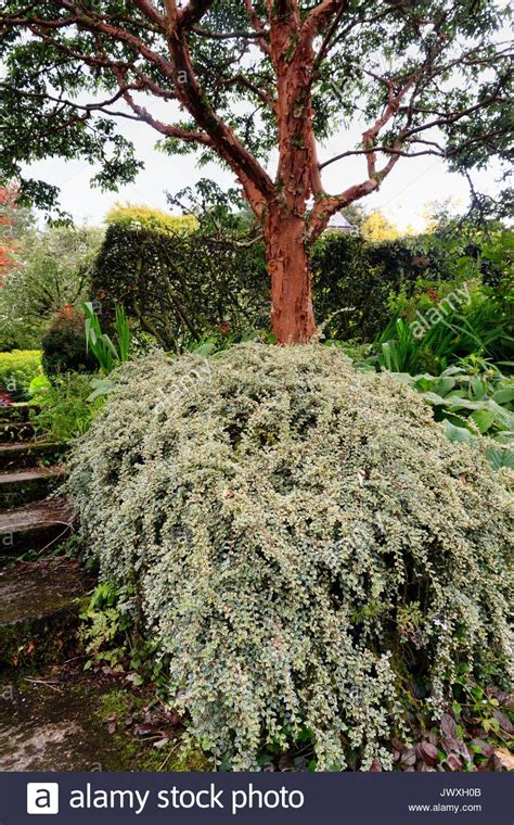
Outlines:
{"label": "lowest, deepest stone step with a tall dark riser", "polygon": [[76,643],[86,580],[76,561],[0,571],[0,671],[62,661]]}

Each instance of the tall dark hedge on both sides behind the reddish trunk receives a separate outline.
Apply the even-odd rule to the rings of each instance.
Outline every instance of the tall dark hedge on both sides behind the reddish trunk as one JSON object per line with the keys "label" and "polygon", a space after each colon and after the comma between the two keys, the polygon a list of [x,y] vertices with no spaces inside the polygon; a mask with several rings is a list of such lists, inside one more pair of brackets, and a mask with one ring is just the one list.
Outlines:
{"label": "tall dark hedge on both sides behind the reddish trunk", "polygon": [[[102,302],[107,319],[123,303],[167,350],[220,331],[237,338],[269,327],[262,244],[241,246],[201,230],[168,231],[143,218],[121,210],[97,261],[91,300]],[[331,338],[372,341],[390,319],[391,295],[401,291],[408,300],[424,279],[462,280],[466,262],[471,277],[480,277],[474,257],[462,255],[435,236],[370,243],[358,234],[327,232],[311,255],[316,317],[320,323],[331,319]],[[497,277],[498,267],[485,263],[486,275],[492,269]]]}

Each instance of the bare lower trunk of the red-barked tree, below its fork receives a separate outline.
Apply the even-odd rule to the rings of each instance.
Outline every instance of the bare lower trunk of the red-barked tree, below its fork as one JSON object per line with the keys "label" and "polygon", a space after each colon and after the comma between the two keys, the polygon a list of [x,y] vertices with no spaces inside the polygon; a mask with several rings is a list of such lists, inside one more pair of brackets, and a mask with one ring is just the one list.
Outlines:
{"label": "bare lower trunk of the red-barked tree, below its fork", "polygon": [[266,259],[271,278],[271,325],[278,344],[306,344],[316,334],[305,221],[270,211]]}

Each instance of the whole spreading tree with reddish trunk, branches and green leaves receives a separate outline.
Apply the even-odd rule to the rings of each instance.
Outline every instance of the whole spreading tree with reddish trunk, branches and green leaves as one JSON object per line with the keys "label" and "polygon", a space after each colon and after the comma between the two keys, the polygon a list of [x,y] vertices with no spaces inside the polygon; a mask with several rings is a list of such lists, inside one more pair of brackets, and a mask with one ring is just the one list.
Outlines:
{"label": "whole spreading tree with reddish trunk, branches and green leaves", "polygon": [[[99,186],[132,180],[124,118],[167,152],[218,157],[262,221],[278,339],[307,340],[307,244],[331,215],[409,157],[465,170],[507,160],[506,20],[491,0],[4,0],[1,174],[82,156]],[[319,142],[352,125],[357,143],[320,164]],[[324,170],[355,156],[362,173],[329,191]],[[23,188],[47,206],[57,194]]]}

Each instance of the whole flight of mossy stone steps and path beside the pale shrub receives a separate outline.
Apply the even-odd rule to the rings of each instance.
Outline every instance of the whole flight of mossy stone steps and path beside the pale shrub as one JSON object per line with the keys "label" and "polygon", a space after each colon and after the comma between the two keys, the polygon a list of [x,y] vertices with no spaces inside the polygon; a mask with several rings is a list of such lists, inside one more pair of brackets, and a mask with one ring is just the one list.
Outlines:
{"label": "whole flight of mossy stone steps and path beside the pale shrub", "polygon": [[63,450],[27,419],[27,405],[0,408],[0,770],[115,770],[118,748],[95,713],[105,688],[66,661],[88,582],[53,553],[73,531],[66,499],[48,498]]}

